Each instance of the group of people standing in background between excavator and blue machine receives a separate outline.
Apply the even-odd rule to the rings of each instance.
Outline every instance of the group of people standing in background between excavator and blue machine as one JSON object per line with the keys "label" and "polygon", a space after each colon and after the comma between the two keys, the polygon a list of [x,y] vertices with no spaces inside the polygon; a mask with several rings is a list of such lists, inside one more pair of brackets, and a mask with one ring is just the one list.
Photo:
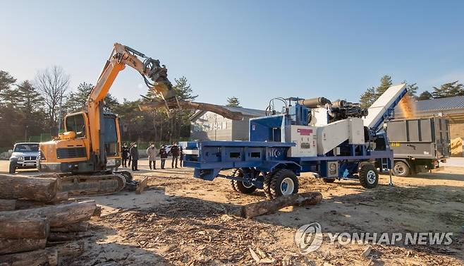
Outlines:
{"label": "group of people standing in background between excavator and blue machine", "polygon": [[[180,161],[179,166],[182,167],[182,147],[178,146],[177,143],[173,143],[169,152],[171,152],[172,155],[171,168],[178,168],[178,161]],[[157,153],[159,153],[159,157],[161,159],[161,169],[164,169],[166,159],[168,159],[168,151],[166,151],[166,145],[162,145],[161,148],[157,150],[157,148],[154,147],[154,143],[150,143],[149,147],[147,148],[148,165],[150,170],[157,169]],[[130,167],[130,164],[132,162],[132,171],[139,171],[138,159],[140,156],[137,148],[137,143],[130,143],[130,147],[128,147],[127,143],[124,143],[123,147],[121,148],[121,155],[123,159],[123,167]]]}

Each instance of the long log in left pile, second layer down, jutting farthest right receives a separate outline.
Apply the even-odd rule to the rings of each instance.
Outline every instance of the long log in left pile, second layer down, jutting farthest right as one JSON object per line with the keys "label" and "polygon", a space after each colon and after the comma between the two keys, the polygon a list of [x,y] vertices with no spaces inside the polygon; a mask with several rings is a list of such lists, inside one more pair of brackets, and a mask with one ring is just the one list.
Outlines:
{"label": "long log in left pile, second layer down, jutting farthest right", "polygon": [[63,227],[68,224],[87,221],[94,213],[94,200],[71,202],[59,205],[47,205],[29,210],[11,210],[0,212],[0,219],[15,219],[20,217],[48,217],[50,227]]}

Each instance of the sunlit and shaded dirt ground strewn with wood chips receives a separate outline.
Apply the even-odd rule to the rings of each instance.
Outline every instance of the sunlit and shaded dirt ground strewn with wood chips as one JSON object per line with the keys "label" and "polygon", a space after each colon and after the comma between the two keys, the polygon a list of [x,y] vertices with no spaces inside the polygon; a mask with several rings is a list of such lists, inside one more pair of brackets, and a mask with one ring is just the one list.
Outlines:
{"label": "sunlit and shaded dirt ground strewn with wood chips", "polygon": [[[0,172],[7,163],[0,161]],[[249,248],[262,250],[275,265],[464,265],[464,167],[393,176],[394,187],[382,175],[372,190],[303,174],[300,192],[320,191],[319,205],[243,219],[233,213],[263,200],[262,191],[243,195],[226,179],[202,181],[193,178],[192,169],[149,171],[146,161],[140,164],[135,177],[149,176],[148,190],[92,197],[102,205],[102,217],[92,219],[94,236],[85,238],[85,253],[67,265],[255,265]],[[89,198],[79,200],[84,199]],[[312,222],[321,224],[324,242],[301,255],[293,237]],[[453,243],[373,245],[365,258],[367,245],[332,244],[329,232],[453,232]]]}

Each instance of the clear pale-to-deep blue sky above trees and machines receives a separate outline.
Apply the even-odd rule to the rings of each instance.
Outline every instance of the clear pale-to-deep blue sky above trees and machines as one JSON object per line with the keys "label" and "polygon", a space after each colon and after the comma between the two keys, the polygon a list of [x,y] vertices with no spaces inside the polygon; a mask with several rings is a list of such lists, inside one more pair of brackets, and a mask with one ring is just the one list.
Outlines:
{"label": "clear pale-to-deep blue sky above trees and machines", "polygon": [[[422,90],[464,82],[463,1],[0,1],[0,69],[59,65],[95,83],[114,42],[185,75],[197,101],[264,109],[271,97],[357,101],[381,75]],[[145,94],[121,72],[111,94]]]}

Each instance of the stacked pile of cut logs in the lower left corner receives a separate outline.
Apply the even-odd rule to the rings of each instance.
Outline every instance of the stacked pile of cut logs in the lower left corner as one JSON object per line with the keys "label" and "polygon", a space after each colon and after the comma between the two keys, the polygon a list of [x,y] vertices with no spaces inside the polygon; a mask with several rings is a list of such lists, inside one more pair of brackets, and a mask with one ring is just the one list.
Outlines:
{"label": "stacked pile of cut logs in the lower left corner", "polygon": [[[93,200],[68,200],[59,179],[0,174],[0,265],[59,265],[83,253]],[[73,241],[73,242],[66,242]]]}

